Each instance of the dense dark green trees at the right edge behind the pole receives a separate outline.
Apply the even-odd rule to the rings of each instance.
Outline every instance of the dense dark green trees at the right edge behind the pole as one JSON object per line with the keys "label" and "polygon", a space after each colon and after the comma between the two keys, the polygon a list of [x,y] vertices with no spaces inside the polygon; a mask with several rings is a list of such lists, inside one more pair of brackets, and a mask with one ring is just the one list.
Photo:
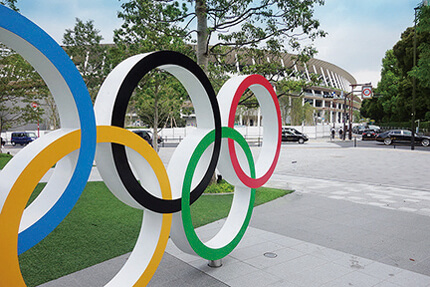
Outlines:
{"label": "dense dark green trees at the right edge behind the pole", "polygon": [[415,77],[416,118],[421,121],[430,119],[430,7],[418,9],[416,32],[417,66],[414,68],[413,63],[415,31],[409,27],[393,49],[386,52],[376,97],[363,101],[361,114],[364,117],[379,123],[410,121]]}

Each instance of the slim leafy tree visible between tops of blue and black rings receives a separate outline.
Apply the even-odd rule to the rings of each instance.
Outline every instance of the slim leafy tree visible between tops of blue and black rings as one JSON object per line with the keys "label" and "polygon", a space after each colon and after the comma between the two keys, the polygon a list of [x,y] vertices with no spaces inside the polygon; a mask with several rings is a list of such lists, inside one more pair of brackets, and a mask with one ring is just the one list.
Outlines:
{"label": "slim leafy tree visible between tops of blue and black rings", "polygon": [[100,45],[103,37],[94,27],[94,21],[83,22],[76,18],[73,29],[66,29],[63,44],[70,58],[80,71],[94,101],[105,78],[106,48]]}

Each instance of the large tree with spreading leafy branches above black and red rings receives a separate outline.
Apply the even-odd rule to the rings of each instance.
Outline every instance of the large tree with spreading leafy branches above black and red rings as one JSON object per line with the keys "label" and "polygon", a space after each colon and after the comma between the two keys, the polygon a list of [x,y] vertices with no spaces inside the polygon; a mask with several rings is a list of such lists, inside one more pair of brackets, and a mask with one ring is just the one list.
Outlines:
{"label": "large tree with spreading leafy branches above black and red rings", "polygon": [[[230,63],[229,66],[225,60],[233,51],[241,52],[239,56],[248,59],[253,53],[257,61],[261,53],[270,51],[279,56],[287,47],[300,54],[298,59],[312,56],[315,49],[302,47],[300,40],[325,36],[325,32],[319,30],[319,22],[313,18],[313,7],[323,3],[322,0],[263,0],[259,3],[251,0],[131,0],[122,4],[123,11],[118,13],[124,24],[115,32],[115,43],[123,44],[123,50],[136,54],[148,51],[142,49],[142,43],[158,43],[151,48],[178,51],[174,43],[179,41],[179,47],[183,47],[185,41],[194,42],[197,63],[208,72],[218,90],[227,79],[227,72],[235,71],[234,65]],[[214,37],[217,40],[212,44]],[[215,65],[210,65],[210,57]],[[265,74],[272,76],[285,70],[279,69],[280,61],[273,63],[261,63],[253,70],[264,68]]]}

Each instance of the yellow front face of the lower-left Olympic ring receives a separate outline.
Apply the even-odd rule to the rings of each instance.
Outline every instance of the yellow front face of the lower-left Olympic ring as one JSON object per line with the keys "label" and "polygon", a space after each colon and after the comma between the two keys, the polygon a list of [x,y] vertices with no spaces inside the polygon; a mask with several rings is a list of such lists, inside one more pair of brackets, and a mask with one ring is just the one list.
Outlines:
{"label": "yellow front face of the lower-left Olympic ring", "polygon": [[[0,213],[0,286],[26,286],[18,261],[18,230],[25,206],[43,175],[61,158],[79,149],[81,132],[75,130],[43,149],[28,164],[13,185]],[[125,145],[143,156],[150,164],[160,184],[163,199],[171,199],[170,182],[157,153],[145,140],[128,130],[113,126],[97,127],[97,143]],[[133,286],[145,286],[154,275],[169,239],[172,214],[163,214],[160,237],[154,254]]]}

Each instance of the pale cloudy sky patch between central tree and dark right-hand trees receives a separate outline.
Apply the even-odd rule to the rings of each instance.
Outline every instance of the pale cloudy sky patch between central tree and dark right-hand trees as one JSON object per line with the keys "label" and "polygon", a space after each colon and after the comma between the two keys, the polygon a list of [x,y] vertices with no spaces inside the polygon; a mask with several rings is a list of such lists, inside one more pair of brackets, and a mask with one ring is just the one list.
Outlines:
{"label": "pale cloudy sky patch between central tree and dark right-hand trees", "polygon": [[415,1],[327,0],[316,8],[326,38],[315,41],[317,58],[331,62],[358,82],[380,79],[382,58],[413,25]]}

